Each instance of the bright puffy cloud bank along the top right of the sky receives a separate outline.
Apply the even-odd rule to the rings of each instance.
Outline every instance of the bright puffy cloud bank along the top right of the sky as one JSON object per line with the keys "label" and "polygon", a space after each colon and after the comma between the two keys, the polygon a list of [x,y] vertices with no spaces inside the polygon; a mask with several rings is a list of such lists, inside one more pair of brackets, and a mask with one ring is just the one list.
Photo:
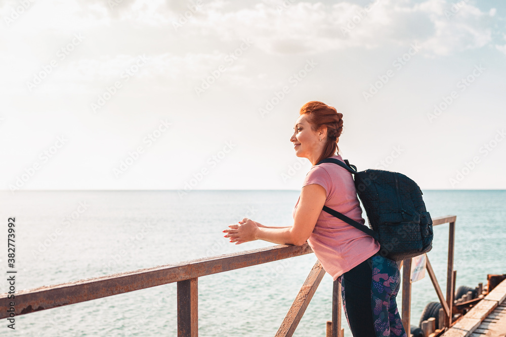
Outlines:
{"label": "bright puffy cloud bank along the top right of the sky", "polygon": [[421,4],[383,0],[365,7],[347,2],[275,4],[230,9],[221,2],[220,6],[206,3],[181,35],[195,38],[197,32],[216,41],[249,36],[268,54],[316,54],[417,40],[425,55],[434,57],[480,48],[491,41],[490,15],[469,4],[449,12],[450,17],[445,11],[452,7],[436,0]]}

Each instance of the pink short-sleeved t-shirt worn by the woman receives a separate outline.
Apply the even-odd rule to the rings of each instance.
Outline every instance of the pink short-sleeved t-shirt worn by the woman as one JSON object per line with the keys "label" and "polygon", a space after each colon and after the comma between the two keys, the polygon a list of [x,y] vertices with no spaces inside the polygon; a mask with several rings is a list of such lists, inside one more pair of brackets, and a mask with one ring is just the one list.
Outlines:
{"label": "pink short-sleeved t-shirt worn by the woman", "polygon": [[[339,155],[332,158],[343,161]],[[362,224],[365,222],[353,176],[345,168],[334,163],[315,165],[306,175],[303,186],[310,184],[318,184],[325,188],[327,194],[325,206],[357,222]],[[293,217],[299,201],[300,197],[293,209]],[[379,243],[372,237],[323,211],[308,238],[308,244],[323,269],[334,281],[379,251]]]}

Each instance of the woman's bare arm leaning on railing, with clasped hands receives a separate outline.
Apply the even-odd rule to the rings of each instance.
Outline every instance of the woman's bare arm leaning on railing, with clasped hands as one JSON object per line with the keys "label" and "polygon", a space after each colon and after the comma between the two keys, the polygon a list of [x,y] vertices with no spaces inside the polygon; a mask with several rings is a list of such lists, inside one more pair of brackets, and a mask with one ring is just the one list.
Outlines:
{"label": "woman's bare arm leaning on railing, with clasped hands", "polygon": [[302,245],[313,232],[316,220],[325,203],[325,188],[318,184],[304,186],[293,226],[265,227],[258,226],[255,221],[243,219],[239,224],[230,225],[224,230],[225,237],[230,238],[236,245],[252,240],[264,240],[274,244]]}

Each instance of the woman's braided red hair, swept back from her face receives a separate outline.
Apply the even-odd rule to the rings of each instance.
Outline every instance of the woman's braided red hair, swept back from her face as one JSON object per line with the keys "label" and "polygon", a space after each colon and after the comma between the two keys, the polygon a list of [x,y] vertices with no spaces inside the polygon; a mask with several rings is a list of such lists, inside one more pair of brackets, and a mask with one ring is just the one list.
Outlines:
{"label": "woman's braided red hair, swept back from her face", "polygon": [[327,128],[327,139],[325,146],[317,163],[325,158],[332,157],[337,152],[339,154],[338,141],[343,131],[343,114],[325,103],[311,101],[301,108],[301,115],[307,114],[307,119],[311,124],[313,131],[318,131],[322,127]]}

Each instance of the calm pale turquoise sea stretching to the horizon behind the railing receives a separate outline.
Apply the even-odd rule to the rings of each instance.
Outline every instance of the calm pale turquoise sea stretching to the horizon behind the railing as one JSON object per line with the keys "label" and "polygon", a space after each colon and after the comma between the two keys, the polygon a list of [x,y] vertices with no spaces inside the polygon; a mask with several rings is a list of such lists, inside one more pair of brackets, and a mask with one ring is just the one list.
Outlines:
{"label": "calm pale turquoise sea stretching to the horizon behind the railing", "polygon": [[[273,244],[234,245],[222,232],[243,217],[289,226],[299,191],[2,191],[0,293],[16,292]],[[425,190],[433,218],[456,215],[456,286],[486,284],[506,273],[506,190]],[[365,213],[364,213],[365,216]],[[15,265],[8,267],[8,223],[15,218]],[[446,294],[448,224],[434,227],[428,258]],[[198,279],[201,336],[273,336],[296,298],[314,254]],[[176,336],[176,284],[15,317],[9,336]],[[325,274],[295,336],[325,336],[332,278]],[[412,283],[411,324],[438,301],[428,275]],[[397,303],[401,306],[401,295]],[[351,336],[343,314],[345,336]]]}

